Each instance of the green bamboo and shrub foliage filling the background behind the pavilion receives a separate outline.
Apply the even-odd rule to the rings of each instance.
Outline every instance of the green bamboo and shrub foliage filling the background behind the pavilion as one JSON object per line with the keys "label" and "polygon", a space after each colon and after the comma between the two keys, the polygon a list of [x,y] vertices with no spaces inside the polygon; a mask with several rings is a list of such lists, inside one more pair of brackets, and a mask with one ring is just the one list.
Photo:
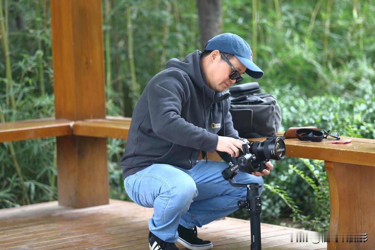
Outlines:
{"label": "green bamboo and shrub foliage filling the background behind the pavilion", "polygon": [[[53,117],[49,6],[43,0],[5,1],[9,22],[0,38],[0,113],[6,121]],[[281,130],[315,125],[374,139],[375,6],[343,0],[330,7],[330,2],[222,0],[222,31],[251,45],[265,72],[258,80],[261,88],[275,94],[282,108]],[[130,117],[138,96],[168,59],[182,60],[201,49],[195,2],[103,0],[102,6],[107,114]],[[246,81],[252,79],[245,75]],[[108,139],[110,196],[129,200],[119,166],[124,143]],[[291,225],[326,230],[323,163],[285,158],[273,164],[264,177],[262,221],[277,224],[290,217]],[[54,138],[1,144],[0,169],[0,208],[57,199]],[[240,210],[234,216],[248,218]]]}

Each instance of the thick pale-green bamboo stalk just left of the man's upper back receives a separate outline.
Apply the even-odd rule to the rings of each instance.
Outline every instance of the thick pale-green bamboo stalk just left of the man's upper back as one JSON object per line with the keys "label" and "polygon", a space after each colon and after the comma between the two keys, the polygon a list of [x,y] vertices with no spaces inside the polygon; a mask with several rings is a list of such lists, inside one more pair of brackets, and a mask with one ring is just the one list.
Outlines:
{"label": "thick pale-green bamboo stalk just left of the man's upper back", "polygon": [[136,81],[135,75],[135,65],[134,65],[134,54],[133,54],[133,27],[132,27],[132,18],[130,13],[130,6],[126,6],[127,12],[127,45],[128,45],[128,58],[130,64],[130,74],[131,74],[131,82],[130,82],[130,93],[132,99],[132,107],[135,108],[135,105],[139,98],[139,86]]}

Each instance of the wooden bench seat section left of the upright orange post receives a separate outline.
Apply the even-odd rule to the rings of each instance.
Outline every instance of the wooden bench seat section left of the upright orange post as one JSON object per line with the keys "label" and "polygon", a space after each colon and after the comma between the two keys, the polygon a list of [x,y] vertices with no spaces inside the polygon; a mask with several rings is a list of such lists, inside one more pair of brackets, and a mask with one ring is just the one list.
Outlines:
{"label": "wooden bench seat section left of the upright orange post", "polygon": [[73,121],[67,119],[33,119],[0,123],[0,142],[12,142],[72,134]]}

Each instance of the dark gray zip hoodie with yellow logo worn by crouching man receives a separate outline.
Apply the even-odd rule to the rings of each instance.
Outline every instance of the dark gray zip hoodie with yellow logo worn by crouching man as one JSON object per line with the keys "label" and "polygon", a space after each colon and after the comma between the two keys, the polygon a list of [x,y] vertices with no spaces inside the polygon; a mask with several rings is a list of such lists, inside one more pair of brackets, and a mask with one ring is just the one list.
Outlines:
{"label": "dark gray zip hoodie with yellow logo worn by crouching man", "polygon": [[[229,93],[207,86],[200,55],[196,50],[183,62],[169,60],[148,82],[120,161],[124,179],[154,163],[190,169],[200,151],[215,150],[218,135],[239,138],[229,113]],[[219,154],[230,160],[229,154]]]}

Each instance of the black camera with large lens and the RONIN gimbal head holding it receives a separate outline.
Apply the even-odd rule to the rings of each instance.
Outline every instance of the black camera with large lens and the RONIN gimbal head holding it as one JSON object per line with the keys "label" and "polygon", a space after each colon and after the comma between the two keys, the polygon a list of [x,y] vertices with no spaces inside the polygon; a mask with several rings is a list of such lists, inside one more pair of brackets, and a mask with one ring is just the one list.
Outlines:
{"label": "black camera with large lens and the RONIN gimbal head holding it", "polygon": [[244,138],[240,138],[240,140],[244,142],[242,145],[243,154],[236,158],[235,164],[229,163],[229,166],[222,172],[222,176],[226,180],[237,175],[240,167],[245,167],[249,173],[261,172],[266,169],[267,161],[271,159],[281,161],[285,157],[285,142],[281,137],[271,137],[264,141],[251,143]]}

